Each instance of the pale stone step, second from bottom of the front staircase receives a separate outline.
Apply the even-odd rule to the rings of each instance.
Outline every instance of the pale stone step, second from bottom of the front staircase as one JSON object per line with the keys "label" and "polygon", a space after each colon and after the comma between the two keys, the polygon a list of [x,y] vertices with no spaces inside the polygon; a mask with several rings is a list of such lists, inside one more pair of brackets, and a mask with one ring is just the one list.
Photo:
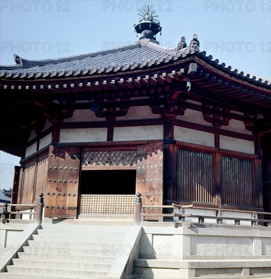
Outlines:
{"label": "pale stone step, second from bottom of the front staircase", "polygon": [[40,260],[40,259],[13,259],[14,266],[32,266],[33,268],[37,267],[61,267],[65,269],[89,269],[89,270],[103,270],[109,271],[112,264],[110,263],[97,263],[97,262],[80,262],[77,259],[74,261],[61,261],[61,260]]}

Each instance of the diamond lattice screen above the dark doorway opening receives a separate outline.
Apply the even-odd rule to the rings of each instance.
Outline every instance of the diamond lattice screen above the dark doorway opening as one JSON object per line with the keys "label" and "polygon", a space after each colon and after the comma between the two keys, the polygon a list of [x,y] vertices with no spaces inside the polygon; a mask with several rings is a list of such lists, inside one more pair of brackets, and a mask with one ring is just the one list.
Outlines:
{"label": "diamond lattice screen above the dark doorway opening", "polygon": [[136,150],[84,151],[82,166],[136,166]]}

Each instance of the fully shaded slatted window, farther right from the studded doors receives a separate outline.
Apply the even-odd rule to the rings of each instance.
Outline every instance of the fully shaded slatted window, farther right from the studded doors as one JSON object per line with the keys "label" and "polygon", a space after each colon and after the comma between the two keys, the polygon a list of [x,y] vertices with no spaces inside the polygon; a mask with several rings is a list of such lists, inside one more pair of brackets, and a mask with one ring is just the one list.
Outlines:
{"label": "fully shaded slatted window, farther right from the studded doors", "polygon": [[222,204],[253,206],[251,160],[221,157]]}

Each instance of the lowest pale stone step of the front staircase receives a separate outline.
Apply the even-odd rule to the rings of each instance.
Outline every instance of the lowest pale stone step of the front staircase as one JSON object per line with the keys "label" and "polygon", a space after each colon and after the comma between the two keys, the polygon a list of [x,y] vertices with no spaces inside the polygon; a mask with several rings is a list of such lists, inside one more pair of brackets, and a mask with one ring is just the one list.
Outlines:
{"label": "lowest pale stone step of the front staircase", "polygon": [[107,271],[101,270],[88,270],[88,269],[72,269],[72,268],[51,268],[51,267],[39,267],[33,268],[32,266],[20,266],[20,265],[8,265],[8,272],[21,273],[21,274],[33,274],[36,278],[40,278],[40,275],[51,275],[53,276],[66,276],[71,278],[76,277],[94,277],[94,278],[106,278]]}

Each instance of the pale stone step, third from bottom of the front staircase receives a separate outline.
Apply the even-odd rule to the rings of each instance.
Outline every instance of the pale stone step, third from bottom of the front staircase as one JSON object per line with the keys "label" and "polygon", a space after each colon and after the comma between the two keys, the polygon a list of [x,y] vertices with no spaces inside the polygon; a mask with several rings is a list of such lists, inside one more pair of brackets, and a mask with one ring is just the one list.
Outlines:
{"label": "pale stone step, third from bottom of the front staircase", "polygon": [[18,259],[33,259],[33,260],[49,260],[49,261],[72,261],[76,257],[76,261],[80,262],[92,262],[92,263],[109,263],[112,264],[115,257],[114,256],[98,256],[98,255],[62,255],[61,253],[58,254],[49,254],[45,255],[42,253],[24,253],[19,252],[17,254]]}

